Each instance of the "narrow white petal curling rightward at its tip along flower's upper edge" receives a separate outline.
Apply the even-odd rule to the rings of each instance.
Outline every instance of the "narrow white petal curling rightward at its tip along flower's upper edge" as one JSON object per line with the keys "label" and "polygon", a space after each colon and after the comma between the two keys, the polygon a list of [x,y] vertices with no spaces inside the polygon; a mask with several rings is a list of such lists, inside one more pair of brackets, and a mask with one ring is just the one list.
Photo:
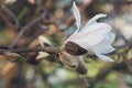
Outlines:
{"label": "narrow white petal curling rightward at its tip along flower's upper edge", "polygon": [[92,19],[90,19],[90,20],[88,21],[88,23],[86,24],[86,26],[85,26],[84,29],[87,29],[89,25],[97,23],[97,20],[98,20],[98,19],[105,18],[105,16],[107,16],[107,14],[100,13],[100,14],[95,15]]}

